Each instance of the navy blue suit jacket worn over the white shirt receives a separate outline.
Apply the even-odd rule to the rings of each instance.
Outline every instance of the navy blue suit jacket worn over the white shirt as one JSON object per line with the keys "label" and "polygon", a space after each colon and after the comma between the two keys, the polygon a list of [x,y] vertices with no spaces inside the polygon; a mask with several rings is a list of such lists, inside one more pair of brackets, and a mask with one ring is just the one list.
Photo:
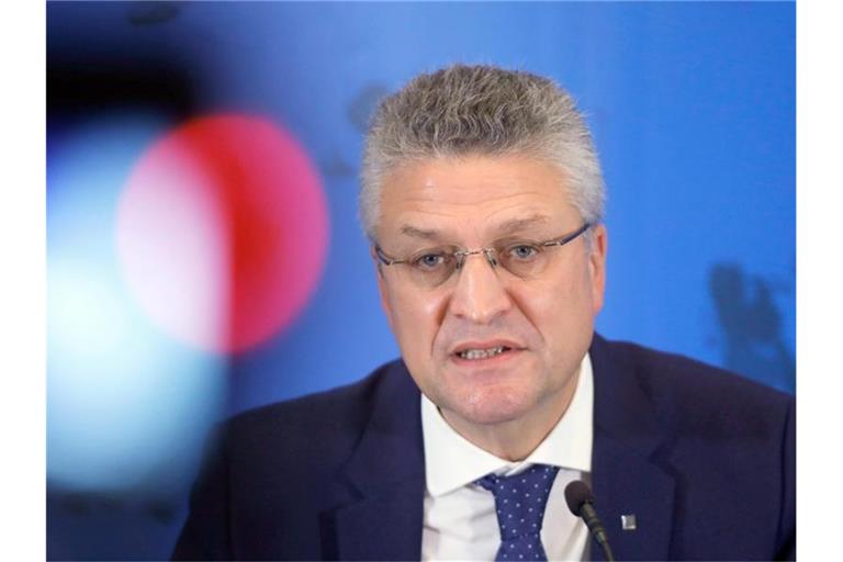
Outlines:
{"label": "navy blue suit jacket worn over the white shirt", "polygon": [[[589,352],[592,482],[616,559],[793,559],[793,398],[599,336]],[[419,391],[396,361],[231,420],[173,558],[418,560],[424,492]]]}

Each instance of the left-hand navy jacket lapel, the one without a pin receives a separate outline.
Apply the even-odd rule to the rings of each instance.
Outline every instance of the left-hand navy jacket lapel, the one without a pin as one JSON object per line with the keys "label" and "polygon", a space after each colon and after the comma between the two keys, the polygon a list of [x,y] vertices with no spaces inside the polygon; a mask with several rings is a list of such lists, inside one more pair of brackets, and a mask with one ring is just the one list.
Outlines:
{"label": "left-hand navy jacket lapel, the one without a pin", "polygon": [[359,499],[330,514],[337,559],[419,559],[424,467],[420,394],[401,362],[385,374],[369,425],[342,471]]}

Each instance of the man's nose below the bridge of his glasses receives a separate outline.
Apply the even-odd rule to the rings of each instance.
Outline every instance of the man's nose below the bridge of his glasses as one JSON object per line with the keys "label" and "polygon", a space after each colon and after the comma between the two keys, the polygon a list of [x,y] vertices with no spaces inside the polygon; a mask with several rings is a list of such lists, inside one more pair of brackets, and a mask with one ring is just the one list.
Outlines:
{"label": "man's nose below the bridge of his glasses", "polygon": [[499,266],[493,267],[485,252],[467,256],[456,273],[451,314],[475,324],[490,324],[512,308],[513,301],[499,277]]}

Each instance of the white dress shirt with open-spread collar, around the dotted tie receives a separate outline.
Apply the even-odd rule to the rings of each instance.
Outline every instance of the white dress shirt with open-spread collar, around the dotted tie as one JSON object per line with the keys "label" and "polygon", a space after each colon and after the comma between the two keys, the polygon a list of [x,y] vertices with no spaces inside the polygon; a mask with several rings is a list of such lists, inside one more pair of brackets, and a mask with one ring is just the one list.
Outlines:
{"label": "white dress shirt with open-spread collar, around the dotted tie", "polygon": [[567,411],[527,459],[510,462],[484,451],[454,431],[437,406],[422,395],[425,440],[425,520],[422,560],[494,560],[501,544],[495,499],[474,484],[490,473],[512,475],[532,464],[559,467],[541,529],[549,560],[585,560],[588,529],[565,505],[573,480],[589,480],[592,470],[592,361],[585,355]]}

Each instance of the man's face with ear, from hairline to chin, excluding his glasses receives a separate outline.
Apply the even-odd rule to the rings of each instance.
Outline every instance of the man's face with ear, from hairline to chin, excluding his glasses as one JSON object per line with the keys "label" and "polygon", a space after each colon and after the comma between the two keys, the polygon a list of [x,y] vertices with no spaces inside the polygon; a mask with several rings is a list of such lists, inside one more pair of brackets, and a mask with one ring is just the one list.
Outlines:
{"label": "man's face with ear, from hairline to chin, excluding his glasses", "polygon": [[[518,156],[405,165],[384,181],[378,240],[390,257],[405,258],[442,246],[557,239],[583,224],[564,181],[552,165]],[[606,233],[600,225],[592,233],[591,252],[584,236],[549,247],[542,273],[527,279],[493,268],[483,254],[434,288],[413,283],[400,270],[407,265],[381,267],[381,297],[404,361],[451,425],[561,415],[603,305]]]}

